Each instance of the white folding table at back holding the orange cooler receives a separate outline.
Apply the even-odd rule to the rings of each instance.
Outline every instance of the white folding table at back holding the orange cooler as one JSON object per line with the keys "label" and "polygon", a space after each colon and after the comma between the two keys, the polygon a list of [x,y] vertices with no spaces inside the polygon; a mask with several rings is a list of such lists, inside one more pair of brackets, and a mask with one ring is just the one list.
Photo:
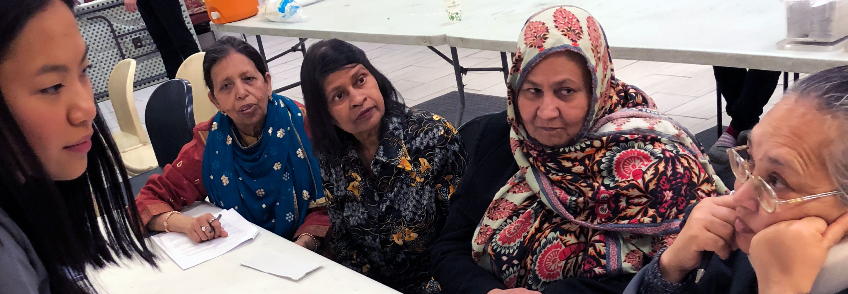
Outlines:
{"label": "white folding table at back holding the orange cooler", "polygon": [[[326,0],[306,6],[306,21],[282,23],[259,20],[254,16],[229,24],[212,24],[215,31],[254,34],[259,53],[265,56],[262,35],[291,36],[300,42],[276,56],[266,58],[271,62],[293,52],[306,53],[307,39],[337,38],[348,42],[373,42],[397,45],[430,47],[446,44],[445,26],[451,25],[441,0]],[[282,92],[300,83],[274,90]]]}

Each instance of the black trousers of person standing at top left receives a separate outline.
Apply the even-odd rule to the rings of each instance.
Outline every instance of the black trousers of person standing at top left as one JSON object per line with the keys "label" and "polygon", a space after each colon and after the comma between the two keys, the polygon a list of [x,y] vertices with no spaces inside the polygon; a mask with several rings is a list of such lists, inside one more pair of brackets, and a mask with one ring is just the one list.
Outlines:
{"label": "black trousers of person standing at top left", "polygon": [[194,42],[192,31],[188,30],[186,21],[182,18],[180,1],[182,0],[138,0],[137,2],[138,13],[142,14],[150,37],[159,48],[169,79],[176,77],[176,69],[180,69],[183,60],[200,52],[198,43]]}

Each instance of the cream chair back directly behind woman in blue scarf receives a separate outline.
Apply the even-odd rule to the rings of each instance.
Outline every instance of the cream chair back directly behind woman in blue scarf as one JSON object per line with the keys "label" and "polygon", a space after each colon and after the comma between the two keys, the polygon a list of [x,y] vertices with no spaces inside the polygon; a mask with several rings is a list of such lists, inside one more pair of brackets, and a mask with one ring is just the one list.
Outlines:
{"label": "cream chair back directly behind woman in blue scarf", "polygon": [[204,56],[206,53],[194,53],[186,58],[176,70],[176,78],[188,80],[192,84],[192,103],[194,104],[194,123],[200,124],[218,113],[215,104],[209,101],[209,88],[204,81]]}

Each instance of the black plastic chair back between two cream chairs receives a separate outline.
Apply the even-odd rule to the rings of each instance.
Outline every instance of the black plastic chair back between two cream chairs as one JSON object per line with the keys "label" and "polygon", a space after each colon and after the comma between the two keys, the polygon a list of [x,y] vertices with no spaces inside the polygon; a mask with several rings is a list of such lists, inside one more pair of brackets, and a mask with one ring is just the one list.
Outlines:
{"label": "black plastic chair back between two cream chairs", "polygon": [[150,94],[144,119],[159,167],[173,163],[182,146],[192,141],[193,105],[188,80],[165,81]]}

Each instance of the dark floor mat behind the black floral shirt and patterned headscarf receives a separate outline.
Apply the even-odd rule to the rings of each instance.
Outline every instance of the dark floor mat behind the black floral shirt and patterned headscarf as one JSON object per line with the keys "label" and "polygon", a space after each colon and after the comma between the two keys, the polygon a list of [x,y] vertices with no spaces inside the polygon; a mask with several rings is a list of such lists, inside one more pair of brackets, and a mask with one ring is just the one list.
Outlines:
{"label": "dark floor mat behind the black floral shirt and patterned headscarf", "polygon": [[[457,127],[462,125],[462,121],[460,121],[460,92],[449,92],[410,107],[441,115]],[[466,92],[466,111],[462,115],[462,120],[468,121],[477,116],[504,111],[504,109],[506,109],[505,97]]]}

